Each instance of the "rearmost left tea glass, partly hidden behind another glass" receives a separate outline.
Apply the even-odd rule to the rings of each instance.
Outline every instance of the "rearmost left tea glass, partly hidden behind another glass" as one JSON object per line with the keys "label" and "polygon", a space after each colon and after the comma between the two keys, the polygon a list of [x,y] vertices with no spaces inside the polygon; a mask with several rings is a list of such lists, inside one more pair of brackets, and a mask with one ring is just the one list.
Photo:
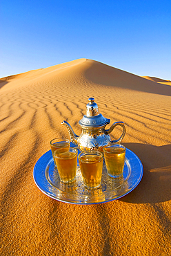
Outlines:
{"label": "rearmost left tea glass, partly hidden behind another glass", "polygon": [[[67,152],[70,149],[70,140],[68,140],[68,138],[54,138],[53,140],[50,141],[50,147],[54,159],[54,151],[56,151],[56,154],[58,154]],[[57,167],[55,159],[54,166]]]}

